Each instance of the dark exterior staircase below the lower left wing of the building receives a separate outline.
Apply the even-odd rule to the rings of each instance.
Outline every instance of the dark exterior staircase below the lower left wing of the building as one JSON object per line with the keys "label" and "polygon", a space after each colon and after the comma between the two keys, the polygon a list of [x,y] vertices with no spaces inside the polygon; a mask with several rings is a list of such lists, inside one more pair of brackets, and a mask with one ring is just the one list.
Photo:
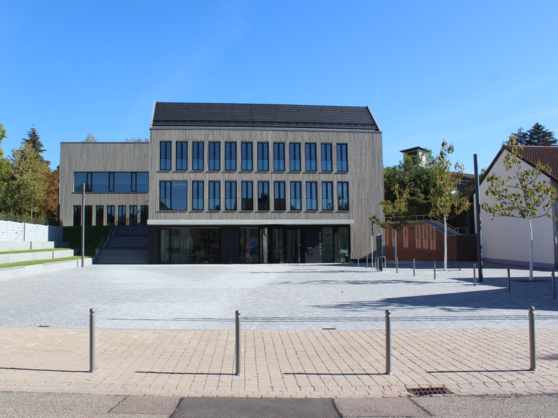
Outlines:
{"label": "dark exterior staircase below the lower left wing of the building", "polygon": [[148,226],[119,226],[104,249],[99,251],[96,264],[147,264],[149,247]]}

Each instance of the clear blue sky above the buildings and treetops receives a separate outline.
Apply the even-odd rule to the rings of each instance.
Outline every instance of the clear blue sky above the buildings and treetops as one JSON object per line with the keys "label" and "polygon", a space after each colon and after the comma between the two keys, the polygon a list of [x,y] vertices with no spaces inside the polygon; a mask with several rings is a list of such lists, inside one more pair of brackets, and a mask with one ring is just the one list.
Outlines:
{"label": "clear blue sky above the buildings and treetops", "polygon": [[370,106],[384,166],[413,146],[473,171],[538,122],[558,135],[557,1],[0,0],[5,155],[149,137],[153,100]]}

